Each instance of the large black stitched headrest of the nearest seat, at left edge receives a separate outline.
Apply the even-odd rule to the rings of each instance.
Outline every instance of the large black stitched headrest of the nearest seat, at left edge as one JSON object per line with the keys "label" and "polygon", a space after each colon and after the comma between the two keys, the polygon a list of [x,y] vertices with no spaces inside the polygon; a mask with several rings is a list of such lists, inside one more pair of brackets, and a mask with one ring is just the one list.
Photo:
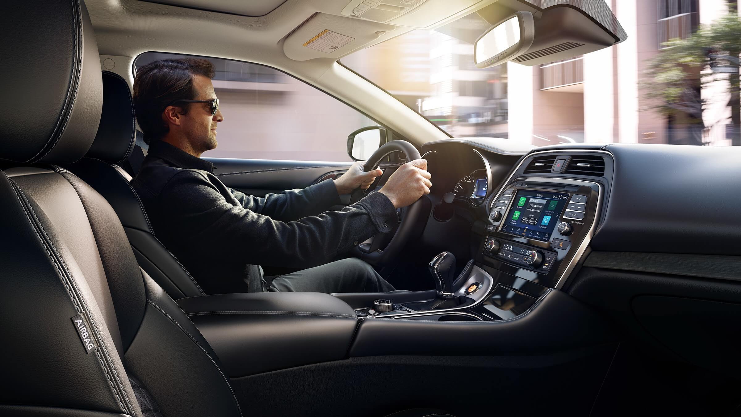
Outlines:
{"label": "large black stitched headrest of the nearest seat, at left edge", "polygon": [[2,11],[0,160],[79,160],[93,143],[103,102],[84,3],[8,1]]}

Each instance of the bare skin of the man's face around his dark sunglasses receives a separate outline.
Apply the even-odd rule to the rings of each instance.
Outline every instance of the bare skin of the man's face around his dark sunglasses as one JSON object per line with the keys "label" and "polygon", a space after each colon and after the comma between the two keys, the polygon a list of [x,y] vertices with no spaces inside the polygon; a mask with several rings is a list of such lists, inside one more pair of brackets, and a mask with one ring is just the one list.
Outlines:
{"label": "bare skin of the man's face around his dark sunglasses", "polygon": [[[216,99],[213,84],[207,76],[193,76],[193,90],[196,91],[196,100]],[[224,120],[219,109],[211,116],[209,103],[190,103],[187,114],[182,116],[182,132],[190,145],[199,152],[210,151],[216,148],[216,123]]]}

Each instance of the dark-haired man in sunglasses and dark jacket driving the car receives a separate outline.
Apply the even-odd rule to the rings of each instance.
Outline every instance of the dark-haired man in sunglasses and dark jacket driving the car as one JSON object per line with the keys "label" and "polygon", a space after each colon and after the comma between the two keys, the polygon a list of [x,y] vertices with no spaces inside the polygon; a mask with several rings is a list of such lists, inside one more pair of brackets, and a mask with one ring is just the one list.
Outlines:
{"label": "dark-haired man in sunglasses and dark jacket driving the car", "polygon": [[333,260],[390,232],[396,209],[430,192],[427,161],[405,163],[380,191],[342,211],[328,209],[340,194],[368,189],[380,169],[365,172],[355,162],[336,180],[265,197],[227,188],[200,158],[216,148],[224,120],[213,75],[205,59],[165,59],[136,74],[136,119],[149,149],[131,184],[159,240],[207,294],[261,291],[248,288],[255,274],[262,278],[256,265],[308,268],[274,278],[265,287],[271,292],[393,291],[368,263]]}

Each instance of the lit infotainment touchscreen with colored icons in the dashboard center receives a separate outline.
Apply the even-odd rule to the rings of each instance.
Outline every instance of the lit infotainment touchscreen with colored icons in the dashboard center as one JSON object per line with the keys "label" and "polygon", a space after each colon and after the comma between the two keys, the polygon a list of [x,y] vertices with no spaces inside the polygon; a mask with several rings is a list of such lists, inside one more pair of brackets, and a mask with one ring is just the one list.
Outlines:
{"label": "lit infotainment touchscreen with colored icons in the dashboard center", "polygon": [[547,242],[567,201],[568,194],[564,193],[519,190],[502,232]]}

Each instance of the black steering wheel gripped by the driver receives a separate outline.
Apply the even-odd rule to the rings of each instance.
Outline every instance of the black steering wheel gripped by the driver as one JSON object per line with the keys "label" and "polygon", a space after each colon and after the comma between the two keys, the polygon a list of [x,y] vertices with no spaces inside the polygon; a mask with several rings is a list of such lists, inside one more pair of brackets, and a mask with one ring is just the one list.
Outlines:
{"label": "black steering wheel gripped by the driver", "polygon": [[[365,162],[365,168],[363,170],[366,172],[373,171],[379,167],[385,157],[393,154],[393,152],[405,154],[408,161],[419,160],[419,151],[417,151],[414,145],[405,140],[392,140],[373,152],[373,155]],[[375,190],[378,188],[378,185],[376,185],[374,191],[371,192],[376,192]],[[357,203],[366,195],[366,191],[358,188],[350,196],[350,203]],[[422,217],[422,213],[425,210],[425,206],[429,208],[429,204],[425,205],[425,202],[428,201],[420,198],[412,203],[411,206],[402,209],[402,213],[399,216],[401,221],[395,231],[392,230],[388,233],[376,234],[369,243],[361,243],[359,246],[355,246],[353,255],[365,260],[371,265],[383,266],[391,263],[407,244],[413,231],[418,230],[415,226],[419,220],[424,218]]]}

